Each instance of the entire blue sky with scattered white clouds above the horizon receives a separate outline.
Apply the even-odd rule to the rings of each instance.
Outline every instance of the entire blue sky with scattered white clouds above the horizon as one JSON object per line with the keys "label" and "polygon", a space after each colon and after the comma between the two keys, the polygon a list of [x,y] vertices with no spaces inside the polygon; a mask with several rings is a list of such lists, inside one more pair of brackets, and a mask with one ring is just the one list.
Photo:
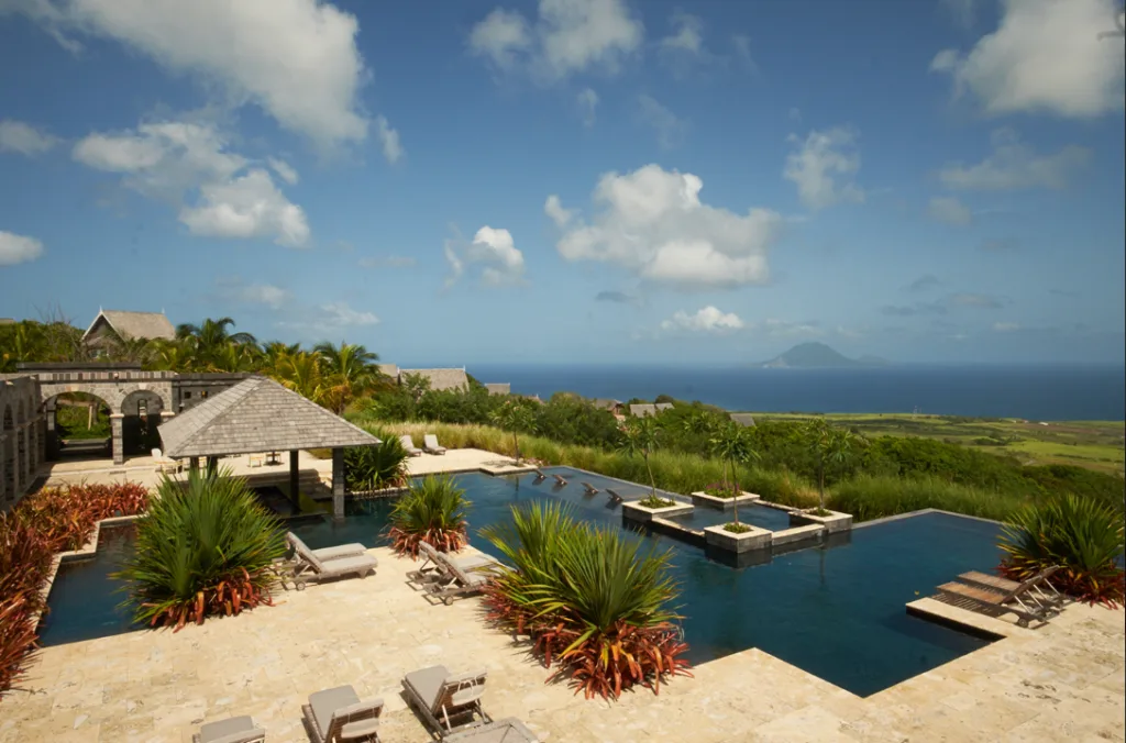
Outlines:
{"label": "entire blue sky with scattered white clouds above the horizon", "polygon": [[0,317],[1121,364],[1120,10],[0,0]]}

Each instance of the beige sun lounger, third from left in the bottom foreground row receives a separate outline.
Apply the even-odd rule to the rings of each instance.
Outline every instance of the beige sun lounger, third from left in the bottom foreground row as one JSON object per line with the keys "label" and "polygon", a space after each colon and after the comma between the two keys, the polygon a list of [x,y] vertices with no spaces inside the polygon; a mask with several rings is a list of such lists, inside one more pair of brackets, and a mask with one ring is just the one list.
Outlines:
{"label": "beige sun lounger, third from left in the bottom foreground row", "polygon": [[403,690],[406,704],[417,709],[441,737],[492,722],[481,708],[481,697],[485,691],[483,670],[455,674],[445,665],[434,665],[403,677]]}

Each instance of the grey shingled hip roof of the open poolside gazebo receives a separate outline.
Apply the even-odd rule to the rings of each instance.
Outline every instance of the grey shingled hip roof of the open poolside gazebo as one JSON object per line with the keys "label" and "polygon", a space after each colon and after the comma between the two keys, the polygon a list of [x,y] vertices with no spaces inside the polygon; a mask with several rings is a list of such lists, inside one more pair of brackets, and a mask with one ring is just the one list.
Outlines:
{"label": "grey shingled hip roof of the open poolside gazebo", "polygon": [[170,457],[207,457],[382,444],[266,377],[251,377],[158,429]]}

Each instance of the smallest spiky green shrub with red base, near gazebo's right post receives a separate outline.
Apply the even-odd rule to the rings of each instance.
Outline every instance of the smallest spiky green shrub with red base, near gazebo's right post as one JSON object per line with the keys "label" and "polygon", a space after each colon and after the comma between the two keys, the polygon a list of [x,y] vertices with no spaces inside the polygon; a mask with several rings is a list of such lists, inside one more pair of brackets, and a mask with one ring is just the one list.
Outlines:
{"label": "smallest spiky green shrub with red base, near gazebo's right post", "polygon": [[418,557],[419,543],[426,541],[438,552],[457,552],[468,541],[468,505],[465,491],[448,476],[429,475],[415,481],[391,510],[387,536],[392,548]]}

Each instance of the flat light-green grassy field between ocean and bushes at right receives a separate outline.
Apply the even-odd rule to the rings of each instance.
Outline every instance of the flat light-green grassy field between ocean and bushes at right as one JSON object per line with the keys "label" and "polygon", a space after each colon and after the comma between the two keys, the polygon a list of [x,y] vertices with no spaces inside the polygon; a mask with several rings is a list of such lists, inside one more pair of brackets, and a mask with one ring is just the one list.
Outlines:
{"label": "flat light-green grassy field between ocean and bushes at right", "polygon": [[[801,413],[750,413],[756,421],[803,420]],[[734,413],[734,418],[745,413]],[[1098,472],[1123,472],[1121,421],[1022,421],[1002,418],[830,413],[833,423],[866,436],[918,436],[1008,454],[1025,464],[1070,464]]]}

